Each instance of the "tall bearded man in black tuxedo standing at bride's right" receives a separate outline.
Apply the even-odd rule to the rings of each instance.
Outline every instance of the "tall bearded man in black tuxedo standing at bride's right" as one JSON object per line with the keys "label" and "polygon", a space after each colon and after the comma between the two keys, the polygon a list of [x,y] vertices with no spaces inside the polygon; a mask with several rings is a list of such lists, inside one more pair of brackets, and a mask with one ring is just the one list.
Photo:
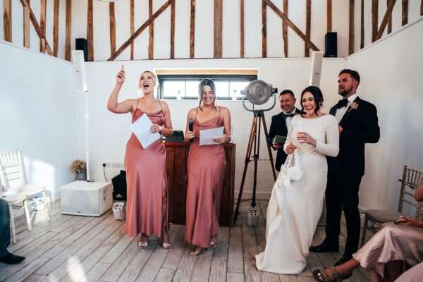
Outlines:
{"label": "tall bearded man in black tuxedo standing at bride's right", "polygon": [[338,120],[339,154],[328,157],[326,185],[326,238],[320,245],[310,247],[312,252],[338,252],[341,232],[341,207],[347,223],[347,242],[342,264],[357,252],[360,240],[360,212],[358,190],[364,175],[364,145],[379,141],[380,130],[376,106],[357,96],[360,75],[357,71],[343,70],[338,77],[341,99],[329,112]]}

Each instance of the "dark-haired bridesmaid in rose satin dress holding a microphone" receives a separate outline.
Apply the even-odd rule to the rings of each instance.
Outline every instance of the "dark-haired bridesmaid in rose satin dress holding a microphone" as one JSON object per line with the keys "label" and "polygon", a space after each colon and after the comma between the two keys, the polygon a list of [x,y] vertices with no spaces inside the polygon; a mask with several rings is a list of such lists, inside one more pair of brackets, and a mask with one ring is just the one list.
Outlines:
{"label": "dark-haired bridesmaid in rose satin dress holding a microphone", "polygon": [[[199,94],[200,106],[188,112],[185,131],[185,140],[191,142],[185,228],[185,240],[195,246],[191,255],[200,255],[203,248],[216,247],[226,164],[223,143],[231,141],[231,113],[226,107],[214,104],[214,82],[202,80]],[[193,132],[189,130],[190,119]],[[221,126],[224,128],[223,136],[214,139],[216,145],[199,145],[201,130]]]}

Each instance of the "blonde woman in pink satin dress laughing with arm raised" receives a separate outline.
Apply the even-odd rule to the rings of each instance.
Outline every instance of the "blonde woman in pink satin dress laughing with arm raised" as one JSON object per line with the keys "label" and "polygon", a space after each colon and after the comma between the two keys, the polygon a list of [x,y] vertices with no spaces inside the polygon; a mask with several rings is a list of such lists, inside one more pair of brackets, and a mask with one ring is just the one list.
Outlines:
{"label": "blonde woman in pink satin dress laughing with arm raised", "polygon": [[[125,81],[123,66],[116,75],[116,85],[111,92],[107,109],[116,114],[129,113],[132,123],[142,115],[152,121],[151,132],[170,136],[173,133],[171,113],[166,102],[154,97],[157,78],[154,73],[141,74],[139,87],[144,95],[138,99],[118,102],[118,94]],[[172,247],[169,240],[168,191],[166,175],[166,154],[161,138],[143,148],[134,134],[126,145],[125,169],[127,182],[127,207],[125,233],[140,234],[138,247],[147,249],[147,238],[156,235],[164,249]]]}

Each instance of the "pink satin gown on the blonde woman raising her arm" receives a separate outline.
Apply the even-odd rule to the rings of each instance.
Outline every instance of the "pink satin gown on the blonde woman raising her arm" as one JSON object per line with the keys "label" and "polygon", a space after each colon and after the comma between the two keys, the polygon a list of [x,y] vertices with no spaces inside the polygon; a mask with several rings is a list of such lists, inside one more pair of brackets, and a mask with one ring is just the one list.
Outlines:
{"label": "pink satin gown on the blonde woman raising her arm", "polygon": [[[132,123],[147,114],[152,123],[164,124],[163,111],[143,113],[136,109]],[[168,231],[168,193],[166,175],[166,151],[161,139],[142,148],[132,134],[126,145],[125,169],[127,206],[125,233],[135,237],[140,233],[161,237]],[[162,230],[165,228],[165,230]]]}

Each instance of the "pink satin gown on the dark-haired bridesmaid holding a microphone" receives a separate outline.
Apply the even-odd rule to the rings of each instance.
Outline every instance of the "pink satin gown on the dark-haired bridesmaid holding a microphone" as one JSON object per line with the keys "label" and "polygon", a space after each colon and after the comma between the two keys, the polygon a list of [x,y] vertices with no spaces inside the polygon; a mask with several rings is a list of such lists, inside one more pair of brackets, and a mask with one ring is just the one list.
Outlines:
{"label": "pink satin gown on the dark-haired bridesmaid holding a microphone", "polygon": [[219,233],[219,210],[226,165],[223,145],[200,146],[199,132],[221,126],[223,122],[220,116],[202,123],[195,119],[193,124],[195,138],[188,154],[185,240],[199,247],[209,247],[210,239]]}

